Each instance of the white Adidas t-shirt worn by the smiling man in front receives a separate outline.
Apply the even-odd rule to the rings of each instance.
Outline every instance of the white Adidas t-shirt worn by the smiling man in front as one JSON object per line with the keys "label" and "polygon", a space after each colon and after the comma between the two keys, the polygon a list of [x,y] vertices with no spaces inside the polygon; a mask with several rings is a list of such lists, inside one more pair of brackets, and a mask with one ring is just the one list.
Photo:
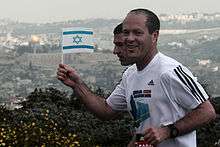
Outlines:
{"label": "white Adidas t-shirt worn by the smiling man in front", "polygon": [[[117,111],[129,111],[137,132],[172,124],[206,101],[208,95],[196,77],[176,60],[157,53],[141,71],[129,67],[107,98]],[[158,147],[196,147],[196,132],[168,139]]]}

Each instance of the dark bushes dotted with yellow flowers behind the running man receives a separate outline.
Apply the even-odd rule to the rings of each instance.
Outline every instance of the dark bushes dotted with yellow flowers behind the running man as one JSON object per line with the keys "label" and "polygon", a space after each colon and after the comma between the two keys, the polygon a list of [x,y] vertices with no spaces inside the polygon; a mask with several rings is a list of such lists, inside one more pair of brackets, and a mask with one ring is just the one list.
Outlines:
{"label": "dark bushes dotted with yellow flowers behind the running man", "polygon": [[[100,88],[95,93],[108,95]],[[120,120],[98,120],[74,93],[35,89],[26,99],[20,109],[0,107],[0,146],[123,147],[131,139],[133,123],[128,115]],[[220,114],[220,98],[211,102]],[[219,120],[197,130],[198,147],[220,146]]]}

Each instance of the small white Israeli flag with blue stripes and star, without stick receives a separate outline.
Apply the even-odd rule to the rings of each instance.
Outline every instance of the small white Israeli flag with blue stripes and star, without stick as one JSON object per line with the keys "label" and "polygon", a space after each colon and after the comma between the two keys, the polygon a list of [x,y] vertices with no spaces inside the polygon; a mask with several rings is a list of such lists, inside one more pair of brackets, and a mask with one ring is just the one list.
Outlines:
{"label": "small white Israeli flag with blue stripes and star, without stick", "polygon": [[63,53],[93,52],[93,30],[91,28],[63,28]]}

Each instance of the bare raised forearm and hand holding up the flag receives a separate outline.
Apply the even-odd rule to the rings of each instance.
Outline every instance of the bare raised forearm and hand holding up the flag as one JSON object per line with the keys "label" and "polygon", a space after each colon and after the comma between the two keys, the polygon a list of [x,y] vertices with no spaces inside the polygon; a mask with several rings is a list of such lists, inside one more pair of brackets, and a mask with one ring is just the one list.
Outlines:
{"label": "bare raised forearm and hand holding up the flag", "polygon": [[86,107],[98,118],[103,120],[114,119],[119,112],[114,111],[105,101],[91,92],[91,90],[82,81],[76,70],[68,65],[60,64],[57,71],[57,78],[65,85],[71,87],[81,98]]}

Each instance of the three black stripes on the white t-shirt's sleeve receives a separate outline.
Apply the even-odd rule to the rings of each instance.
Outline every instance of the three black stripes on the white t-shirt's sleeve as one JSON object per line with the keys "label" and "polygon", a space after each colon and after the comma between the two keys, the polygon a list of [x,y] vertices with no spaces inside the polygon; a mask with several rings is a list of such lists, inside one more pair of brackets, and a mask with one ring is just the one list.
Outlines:
{"label": "three black stripes on the white t-shirt's sleeve", "polygon": [[181,66],[176,67],[174,72],[181,82],[183,82],[190,89],[197,101],[202,103],[206,100],[196,82],[183,70]]}

